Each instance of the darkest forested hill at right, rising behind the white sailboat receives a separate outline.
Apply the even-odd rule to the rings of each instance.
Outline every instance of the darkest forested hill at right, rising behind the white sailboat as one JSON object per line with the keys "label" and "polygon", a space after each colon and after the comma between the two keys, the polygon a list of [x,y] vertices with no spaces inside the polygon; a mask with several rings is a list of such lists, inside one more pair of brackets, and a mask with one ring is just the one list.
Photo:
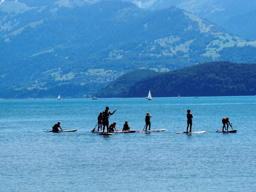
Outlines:
{"label": "darkest forested hill at right, rising behind the white sailboat", "polygon": [[256,64],[207,62],[160,73],[137,81],[129,97],[230,96],[256,94]]}

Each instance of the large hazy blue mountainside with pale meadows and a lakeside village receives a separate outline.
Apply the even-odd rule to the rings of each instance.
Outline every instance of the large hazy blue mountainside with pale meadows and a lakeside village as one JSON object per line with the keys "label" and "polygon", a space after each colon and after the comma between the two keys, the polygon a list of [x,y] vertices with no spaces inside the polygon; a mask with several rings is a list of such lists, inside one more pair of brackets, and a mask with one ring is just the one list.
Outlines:
{"label": "large hazy blue mountainside with pale meadows and a lakeside village", "polygon": [[1,1],[0,97],[29,97],[29,91],[50,97],[54,89],[84,97],[131,69],[256,61],[251,38],[173,6],[148,8],[122,1]]}

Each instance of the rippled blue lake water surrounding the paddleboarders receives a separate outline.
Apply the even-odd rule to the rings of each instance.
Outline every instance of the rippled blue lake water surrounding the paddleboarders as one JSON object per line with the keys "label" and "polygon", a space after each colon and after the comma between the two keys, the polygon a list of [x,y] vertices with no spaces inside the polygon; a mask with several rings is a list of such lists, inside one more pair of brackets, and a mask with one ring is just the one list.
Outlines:
{"label": "rippled blue lake water surrounding the paddleboarders", "polygon": [[[151,133],[92,133],[109,122]],[[186,130],[186,110],[193,114]],[[0,191],[255,191],[256,96],[0,100]],[[216,132],[229,117],[236,133]],[[46,132],[57,121],[76,132]]]}

